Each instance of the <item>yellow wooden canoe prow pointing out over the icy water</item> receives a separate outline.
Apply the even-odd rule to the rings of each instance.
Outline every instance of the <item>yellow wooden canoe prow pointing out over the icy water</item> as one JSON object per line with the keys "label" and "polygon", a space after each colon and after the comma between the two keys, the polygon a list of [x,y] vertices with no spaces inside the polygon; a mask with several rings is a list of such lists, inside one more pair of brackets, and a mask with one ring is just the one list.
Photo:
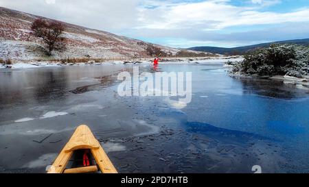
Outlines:
{"label": "yellow wooden canoe prow pointing out over the icy water", "polygon": [[[100,145],[100,142],[93,136],[87,125],[80,125],[73,136],[71,136],[67,145],[62,149],[54,164],[50,167],[47,173],[64,173],[67,163],[71,158],[73,151],[79,149],[90,149],[95,158],[95,162],[102,173],[117,173],[111,160],[109,160],[105,151]],[[80,171],[83,171],[82,169]]]}

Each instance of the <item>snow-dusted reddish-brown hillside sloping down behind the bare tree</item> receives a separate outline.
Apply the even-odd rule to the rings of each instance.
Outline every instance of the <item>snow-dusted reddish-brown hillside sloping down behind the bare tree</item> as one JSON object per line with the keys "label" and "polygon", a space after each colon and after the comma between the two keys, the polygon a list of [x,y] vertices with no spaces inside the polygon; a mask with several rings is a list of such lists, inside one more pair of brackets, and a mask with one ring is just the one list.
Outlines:
{"label": "snow-dusted reddish-brown hillside sloping down behind the bare tree", "polygon": [[[12,60],[46,60],[40,40],[30,34],[32,22],[39,18],[32,14],[0,7],[0,58]],[[67,50],[54,52],[52,58],[146,58],[148,42],[117,36],[108,32],[65,23],[63,36]],[[155,45],[165,53],[175,55],[179,49]],[[194,52],[200,53],[200,52]]]}

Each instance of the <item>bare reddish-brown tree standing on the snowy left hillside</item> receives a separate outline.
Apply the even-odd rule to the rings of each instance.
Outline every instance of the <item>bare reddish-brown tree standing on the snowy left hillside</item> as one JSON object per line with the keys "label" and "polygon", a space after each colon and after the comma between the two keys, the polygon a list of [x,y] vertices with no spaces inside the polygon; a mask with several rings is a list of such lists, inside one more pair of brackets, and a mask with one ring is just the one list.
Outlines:
{"label": "bare reddish-brown tree standing on the snowy left hillside", "polygon": [[52,55],[54,50],[65,50],[66,41],[61,36],[62,32],[65,31],[65,25],[62,23],[38,18],[32,23],[31,30],[34,36],[43,40],[48,55]]}

